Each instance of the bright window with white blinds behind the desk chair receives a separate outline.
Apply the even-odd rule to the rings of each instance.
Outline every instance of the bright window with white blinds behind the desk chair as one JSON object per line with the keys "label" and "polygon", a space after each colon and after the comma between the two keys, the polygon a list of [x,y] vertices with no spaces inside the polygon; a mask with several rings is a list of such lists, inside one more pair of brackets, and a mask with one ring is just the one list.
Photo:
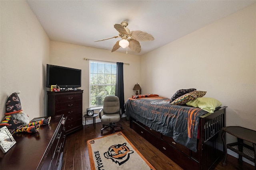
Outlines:
{"label": "bright window with white blinds behind the desk chair", "polygon": [[116,63],[90,61],[90,107],[102,107],[106,96],[115,95]]}

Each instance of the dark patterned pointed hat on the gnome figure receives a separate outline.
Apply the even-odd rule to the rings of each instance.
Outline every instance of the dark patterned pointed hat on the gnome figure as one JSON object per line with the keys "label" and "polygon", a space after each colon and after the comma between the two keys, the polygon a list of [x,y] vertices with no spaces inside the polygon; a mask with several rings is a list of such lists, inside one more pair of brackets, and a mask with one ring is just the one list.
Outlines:
{"label": "dark patterned pointed hat on the gnome figure", "polygon": [[6,102],[6,113],[5,115],[10,115],[13,113],[18,113],[22,111],[21,104],[20,104],[20,98],[18,94],[20,92],[14,92],[11,94]]}

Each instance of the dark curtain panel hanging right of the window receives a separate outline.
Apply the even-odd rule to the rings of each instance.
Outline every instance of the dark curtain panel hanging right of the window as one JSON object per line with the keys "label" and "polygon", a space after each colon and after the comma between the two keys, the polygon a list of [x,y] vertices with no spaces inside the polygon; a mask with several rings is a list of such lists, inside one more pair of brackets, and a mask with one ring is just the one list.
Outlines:
{"label": "dark curtain panel hanging right of the window", "polygon": [[116,63],[116,96],[120,101],[120,108],[124,113],[124,63]]}

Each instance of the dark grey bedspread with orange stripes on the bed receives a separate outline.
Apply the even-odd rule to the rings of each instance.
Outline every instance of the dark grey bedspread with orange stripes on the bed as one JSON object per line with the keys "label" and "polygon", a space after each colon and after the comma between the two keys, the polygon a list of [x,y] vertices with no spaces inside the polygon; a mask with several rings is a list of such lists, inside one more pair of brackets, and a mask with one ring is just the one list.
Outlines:
{"label": "dark grey bedspread with orange stripes on the bed", "polygon": [[199,116],[208,112],[169,102],[170,99],[159,96],[129,98],[124,104],[125,114],[196,152]]}

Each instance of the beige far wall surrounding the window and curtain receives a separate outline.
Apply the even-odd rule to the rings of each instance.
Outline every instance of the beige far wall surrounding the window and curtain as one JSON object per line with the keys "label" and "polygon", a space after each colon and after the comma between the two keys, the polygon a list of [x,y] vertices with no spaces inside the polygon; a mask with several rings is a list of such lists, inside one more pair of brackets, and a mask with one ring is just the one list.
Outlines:
{"label": "beige far wall surrounding the window and curtain", "polygon": [[50,64],[78,68],[82,70],[83,112],[89,107],[89,61],[84,58],[103,60],[110,62],[129,63],[124,64],[124,100],[126,101],[134,91],[132,88],[137,82],[140,83],[140,57],[119,52],[85,47],[51,41]]}

